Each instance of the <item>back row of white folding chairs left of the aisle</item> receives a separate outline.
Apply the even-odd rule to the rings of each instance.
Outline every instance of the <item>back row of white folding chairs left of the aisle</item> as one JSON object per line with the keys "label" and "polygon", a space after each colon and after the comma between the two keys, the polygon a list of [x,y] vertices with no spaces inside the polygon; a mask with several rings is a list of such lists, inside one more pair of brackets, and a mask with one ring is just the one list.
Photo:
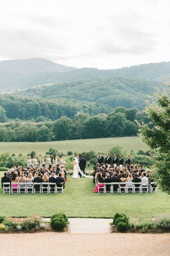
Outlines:
{"label": "back row of white folding chairs left of the aisle", "polygon": [[[63,193],[63,184],[58,183],[61,187],[57,187],[56,183],[51,182],[4,182],[3,183],[3,191],[4,193]],[[13,186],[15,185],[15,186]],[[17,185],[17,186],[16,186]],[[37,188],[36,188],[37,186]]]}

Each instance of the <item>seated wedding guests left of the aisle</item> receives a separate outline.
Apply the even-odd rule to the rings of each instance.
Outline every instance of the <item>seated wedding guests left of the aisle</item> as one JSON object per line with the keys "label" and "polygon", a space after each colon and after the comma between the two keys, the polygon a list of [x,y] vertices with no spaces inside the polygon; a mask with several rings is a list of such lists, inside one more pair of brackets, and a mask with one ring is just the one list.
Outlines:
{"label": "seated wedding guests left of the aisle", "polygon": [[[3,183],[10,182],[13,188],[18,187],[18,184],[13,183],[56,183],[57,187],[65,187],[65,181],[67,181],[67,172],[65,169],[65,165],[59,165],[56,163],[55,165],[51,165],[49,163],[48,168],[46,167],[46,163],[42,163],[42,166],[38,169],[37,166],[22,166],[19,167],[19,164],[13,166],[11,170],[4,172],[4,177],[1,178],[1,184],[3,188]],[[29,187],[29,184],[27,184]],[[32,185],[30,185],[31,187]],[[24,187],[24,184],[21,184],[20,187]]]}

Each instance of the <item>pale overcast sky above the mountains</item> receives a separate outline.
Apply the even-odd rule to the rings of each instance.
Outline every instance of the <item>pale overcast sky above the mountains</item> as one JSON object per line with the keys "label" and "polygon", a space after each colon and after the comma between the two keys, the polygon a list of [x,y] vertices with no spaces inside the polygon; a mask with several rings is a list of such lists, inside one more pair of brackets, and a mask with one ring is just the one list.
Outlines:
{"label": "pale overcast sky above the mountains", "polygon": [[0,61],[100,69],[170,61],[169,0],[0,0]]}

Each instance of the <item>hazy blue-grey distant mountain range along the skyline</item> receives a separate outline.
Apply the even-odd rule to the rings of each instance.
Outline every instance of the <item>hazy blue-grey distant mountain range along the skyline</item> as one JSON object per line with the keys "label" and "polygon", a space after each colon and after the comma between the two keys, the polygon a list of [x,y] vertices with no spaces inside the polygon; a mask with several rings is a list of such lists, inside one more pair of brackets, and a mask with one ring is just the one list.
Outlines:
{"label": "hazy blue-grey distant mountain range along the skyline", "polygon": [[170,62],[142,64],[119,69],[74,68],[42,58],[0,62],[0,91],[14,91],[42,84],[71,82],[97,77],[138,77],[162,81],[169,77]]}

